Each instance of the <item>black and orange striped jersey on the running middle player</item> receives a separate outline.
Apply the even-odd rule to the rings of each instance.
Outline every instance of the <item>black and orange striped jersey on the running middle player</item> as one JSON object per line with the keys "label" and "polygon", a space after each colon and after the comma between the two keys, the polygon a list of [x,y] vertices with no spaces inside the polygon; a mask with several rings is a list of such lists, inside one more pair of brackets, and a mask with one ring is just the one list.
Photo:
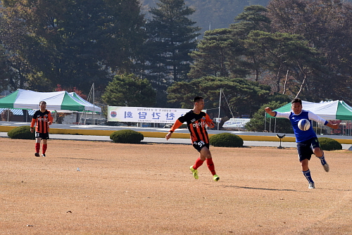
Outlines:
{"label": "black and orange striped jersey on the running middle player", "polygon": [[172,125],[170,131],[174,132],[175,129],[180,127],[183,122],[187,122],[187,127],[191,133],[191,140],[194,141],[204,141],[204,143],[209,143],[208,132],[206,131],[206,125],[208,127],[214,127],[213,121],[210,119],[209,115],[201,112],[194,113],[190,110],[185,115],[181,116],[176,120],[174,125]]}

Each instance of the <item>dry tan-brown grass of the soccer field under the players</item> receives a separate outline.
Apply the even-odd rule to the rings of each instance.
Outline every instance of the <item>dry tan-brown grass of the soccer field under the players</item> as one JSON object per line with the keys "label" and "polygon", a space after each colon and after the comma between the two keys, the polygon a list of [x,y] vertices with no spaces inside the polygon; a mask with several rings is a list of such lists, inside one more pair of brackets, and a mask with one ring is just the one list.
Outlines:
{"label": "dry tan-brown grass of the soccer field under the players", "polygon": [[[182,144],[0,138],[0,234],[351,234],[350,151],[327,152],[330,172],[295,148],[215,148],[213,182]],[[77,171],[77,167],[80,171]]]}

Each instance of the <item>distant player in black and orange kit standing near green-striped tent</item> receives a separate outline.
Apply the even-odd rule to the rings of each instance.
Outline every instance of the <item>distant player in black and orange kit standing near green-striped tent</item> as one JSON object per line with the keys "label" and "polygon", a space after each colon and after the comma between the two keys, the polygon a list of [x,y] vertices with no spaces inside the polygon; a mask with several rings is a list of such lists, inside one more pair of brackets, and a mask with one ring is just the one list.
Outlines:
{"label": "distant player in black and orange kit standing near green-striped tent", "polygon": [[37,110],[34,115],[32,122],[30,124],[30,132],[34,132],[35,127],[35,153],[36,157],[39,157],[40,151],[40,142],[43,139],[42,146],[42,157],[45,157],[46,148],[48,148],[48,139],[49,139],[49,125],[53,123],[53,117],[49,110],[46,110],[46,102],[39,102],[40,110]]}

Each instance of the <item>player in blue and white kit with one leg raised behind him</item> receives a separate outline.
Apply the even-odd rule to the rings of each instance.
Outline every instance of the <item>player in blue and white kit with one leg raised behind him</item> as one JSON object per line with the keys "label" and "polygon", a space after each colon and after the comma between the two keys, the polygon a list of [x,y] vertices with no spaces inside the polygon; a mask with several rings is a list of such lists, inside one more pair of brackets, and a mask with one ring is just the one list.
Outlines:
{"label": "player in blue and white kit with one leg raised behind him", "polygon": [[310,176],[310,170],[308,167],[308,161],[310,160],[312,154],[315,154],[320,159],[322,166],[326,172],[329,171],[329,165],[327,164],[324,156],[324,152],[320,149],[320,144],[318,137],[313,130],[313,126],[310,123],[310,128],[306,131],[302,131],[298,128],[298,122],[301,119],[307,119],[311,122],[314,120],[322,125],[337,129],[339,125],[331,124],[326,120],[320,118],[314,113],[302,109],[301,99],[294,99],[291,101],[291,111],[285,113],[279,113],[272,111],[271,108],[265,108],[265,112],[276,118],[287,118],[291,121],[291,125],[294,129],[294,134],[296,136],[297,151],[299,156],[299,161],[301,162],[302,172],[306,179],[308,180],[308,189],[315,189],[315,185],[312,177]]}

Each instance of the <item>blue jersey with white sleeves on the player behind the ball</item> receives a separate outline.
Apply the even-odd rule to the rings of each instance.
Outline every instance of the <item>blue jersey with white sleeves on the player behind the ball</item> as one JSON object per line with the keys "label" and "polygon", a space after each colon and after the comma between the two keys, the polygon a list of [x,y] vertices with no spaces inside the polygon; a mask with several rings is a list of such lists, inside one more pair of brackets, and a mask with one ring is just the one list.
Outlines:
{"label": "blue jersey with white sleeves on the player behind the ball", "polygon": [[[276,111],[275,111],[276,112]],[[327,121],[320,118],[318,115],[308,111],[308,110],[302,110],[300,114],[294,114],[294,112],[286,112],[286,113],[279,113],[276,112],[275,115],[276,118],[287,118],[291,121],[292,128],[294,129],[294,134],[296,136],[296,142],[303,142],[307,141],[309,139],[317,137],[313,130],[313,125],[312,121],[314,120],[315,122],[318,122],[322,125],[327,125]],[[298,128],[298,122],[301,119],[307,119],[310,122],[310,128],[306,131],[302,131],[301,129]]]}

